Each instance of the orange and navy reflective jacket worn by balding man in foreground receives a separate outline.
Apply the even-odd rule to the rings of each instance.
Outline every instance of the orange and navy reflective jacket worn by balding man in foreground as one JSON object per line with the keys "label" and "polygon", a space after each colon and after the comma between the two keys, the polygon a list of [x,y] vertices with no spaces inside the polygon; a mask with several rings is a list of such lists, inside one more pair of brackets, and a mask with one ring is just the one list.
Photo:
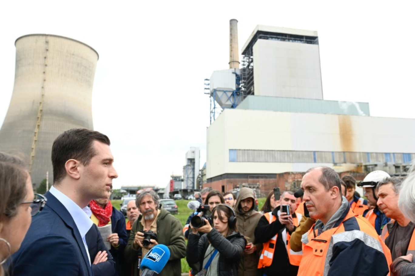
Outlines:
{"label": "orange and navy reflective jacket worn by balding man in foreground", "polygon": [[[388,273],[392,263],[388,247],[366,218],[354,214],[351,209],[348,210],[338,226],[325,230],[318,236],[316,236],[317,230],[314,229],[315,225],[309,230],[308,243],[303,244],[303,257],[298,276],[328,275],[329,271],[331,275],[368,275],[367,271],[373,271],[375,274],[382,271],[384,275]],[[356,247],[357,245],[363,247],[363,250]],[[337,248],[336,255],[333,254],[334,247]],[[361,254],[366,255],[361,256]],[[365,261],[369,259],[373,262]],[[344,272],[344,262],[348,262],[349,266],[354,269],[353,273]],[[356,270],[354,266],[361,265],[357,262],[364,262],[366,270]]]}

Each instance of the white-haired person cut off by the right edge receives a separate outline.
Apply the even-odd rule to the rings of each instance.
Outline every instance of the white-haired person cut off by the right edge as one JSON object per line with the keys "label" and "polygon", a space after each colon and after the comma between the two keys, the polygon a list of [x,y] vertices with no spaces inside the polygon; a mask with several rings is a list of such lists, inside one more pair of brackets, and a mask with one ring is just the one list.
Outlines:
{"label": "white-haired person cut off by the right edge", "polygon": [[[415,222],[415,166],[410,168],[407,178],[402,183],[399,194],[399,209],[410,221]],[[409,253],[393,261],[391,272],[394,276],[411,276],[415,274],[413,255]]]}

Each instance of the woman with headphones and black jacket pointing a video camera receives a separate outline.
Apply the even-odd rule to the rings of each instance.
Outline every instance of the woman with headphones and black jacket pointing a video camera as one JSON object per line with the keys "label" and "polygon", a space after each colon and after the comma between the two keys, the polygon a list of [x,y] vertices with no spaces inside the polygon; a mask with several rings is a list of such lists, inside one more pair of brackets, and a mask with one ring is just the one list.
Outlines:
{"label": "woman with headphones and black jacket pointing a video camera", "polygon": [[226,204],[218,204],[211,218],[213,228],[205,218],[203,226],[191,228],[186,260],[199,271],[197,276],[236,276],[246,240],[237,230],[235,212]]}

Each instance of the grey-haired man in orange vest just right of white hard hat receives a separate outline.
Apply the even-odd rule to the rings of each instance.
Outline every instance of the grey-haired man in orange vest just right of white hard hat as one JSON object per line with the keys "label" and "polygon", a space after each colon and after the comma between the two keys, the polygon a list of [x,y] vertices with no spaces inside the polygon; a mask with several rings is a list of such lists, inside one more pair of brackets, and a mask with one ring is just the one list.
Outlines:
{"label": "grey-haired man in orange vest just right of white hard hat", "polygon": [[398,207],[402,178],[389,177],[378,183],[378,206],[392,218],[383,227],[381,237],[391,250],[392,260],[406,254],[415,254],[415,224]]}

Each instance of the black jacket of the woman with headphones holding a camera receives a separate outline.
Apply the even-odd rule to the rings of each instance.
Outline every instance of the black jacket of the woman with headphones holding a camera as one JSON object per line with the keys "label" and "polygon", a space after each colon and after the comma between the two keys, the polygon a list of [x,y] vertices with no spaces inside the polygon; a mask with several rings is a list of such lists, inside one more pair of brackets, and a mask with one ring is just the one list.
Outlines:
{"label": "black jacket of the woman with headphones holding a camera", "polygon": [[226,238],[215,228],[202,236],[190,233],[186,247],[186,260],[190,267],[196,271],[202,270],[203,259],[209,242],[219,253],[217,275],[237,276],[239,260],[246,245],[245,238],[239,232],[234,232]]}

